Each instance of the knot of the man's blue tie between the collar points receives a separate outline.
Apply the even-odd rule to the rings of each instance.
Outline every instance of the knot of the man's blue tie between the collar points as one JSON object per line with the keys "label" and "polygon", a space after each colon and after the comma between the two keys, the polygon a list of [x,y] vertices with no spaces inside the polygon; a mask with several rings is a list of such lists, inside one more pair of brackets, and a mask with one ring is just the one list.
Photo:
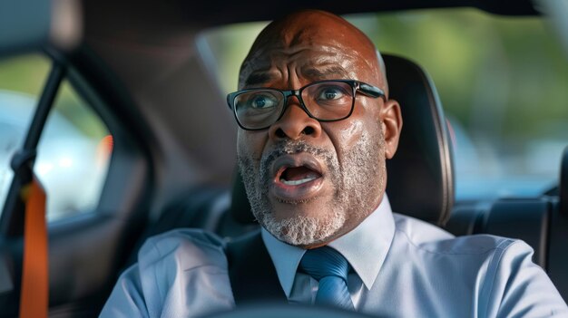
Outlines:
{"label": "knot of the man's blue tie between the collar points", "polygon": [[328,246],[308,249],[299,262],[299,268],[318,281],[326,276],[336,276],[345,282],[348,280],[348,260]]}

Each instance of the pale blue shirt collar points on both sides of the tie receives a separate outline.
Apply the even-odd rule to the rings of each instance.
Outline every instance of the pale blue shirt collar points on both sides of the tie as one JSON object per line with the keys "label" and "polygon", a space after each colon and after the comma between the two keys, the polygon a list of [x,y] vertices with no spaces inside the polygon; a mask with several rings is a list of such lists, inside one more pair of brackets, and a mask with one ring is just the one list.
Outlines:
{"label": "pale blue shirt collar points on both sides of the tie", "polygon": [[[394,235],[395,221],[385,194],[380,205],[371,215],[355,229],[329,243],[328,246],[335,248],[347,258],[363,284],[370,289],[385,261]],[[306,250],[279,241],[264,227],[261,236],[276,268],[282,289],[289,297],[299,261]]]}

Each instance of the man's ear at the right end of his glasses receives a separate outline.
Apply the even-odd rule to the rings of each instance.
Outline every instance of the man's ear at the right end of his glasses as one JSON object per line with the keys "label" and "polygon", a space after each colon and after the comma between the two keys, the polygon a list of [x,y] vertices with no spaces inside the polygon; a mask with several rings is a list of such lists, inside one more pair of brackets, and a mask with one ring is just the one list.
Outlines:
{"label": "man's ear at the right end of his glasses", "polygon": [[397,152],[398,139],[402,130],[402,115],[398,101],[385,101],[381,109],[380,118],[385,135],[385,157],[392,159],[395,156],[395,152]]}

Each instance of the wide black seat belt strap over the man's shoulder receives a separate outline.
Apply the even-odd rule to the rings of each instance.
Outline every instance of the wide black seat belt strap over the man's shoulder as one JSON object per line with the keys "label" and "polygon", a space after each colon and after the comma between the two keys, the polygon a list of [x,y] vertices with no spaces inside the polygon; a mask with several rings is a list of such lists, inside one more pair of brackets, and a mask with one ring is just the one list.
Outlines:
{"label": "wide black seat belt strap over the man's shoulder", "polygon": [[230,241],[225,252],[235,304],[288,304],[260,229]]}

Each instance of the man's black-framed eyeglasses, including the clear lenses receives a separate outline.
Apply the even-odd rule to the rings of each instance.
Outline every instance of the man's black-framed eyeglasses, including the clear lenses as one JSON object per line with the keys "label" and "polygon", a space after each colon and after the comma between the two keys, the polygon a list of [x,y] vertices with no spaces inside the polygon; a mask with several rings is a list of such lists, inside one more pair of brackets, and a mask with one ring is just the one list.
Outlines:
{"label": "man's black-framed eyeglasses, including the clear lenses", "polygon": [[229,108],[243,130],[265,130],[278,121],[290,96],[298,97],[308,116],[319,121],[345,120],[353,112],[356,93],[385,99],[385,92],[365,82],[329,80],[311,82],[299,90],[254,88],[227,95]]}

